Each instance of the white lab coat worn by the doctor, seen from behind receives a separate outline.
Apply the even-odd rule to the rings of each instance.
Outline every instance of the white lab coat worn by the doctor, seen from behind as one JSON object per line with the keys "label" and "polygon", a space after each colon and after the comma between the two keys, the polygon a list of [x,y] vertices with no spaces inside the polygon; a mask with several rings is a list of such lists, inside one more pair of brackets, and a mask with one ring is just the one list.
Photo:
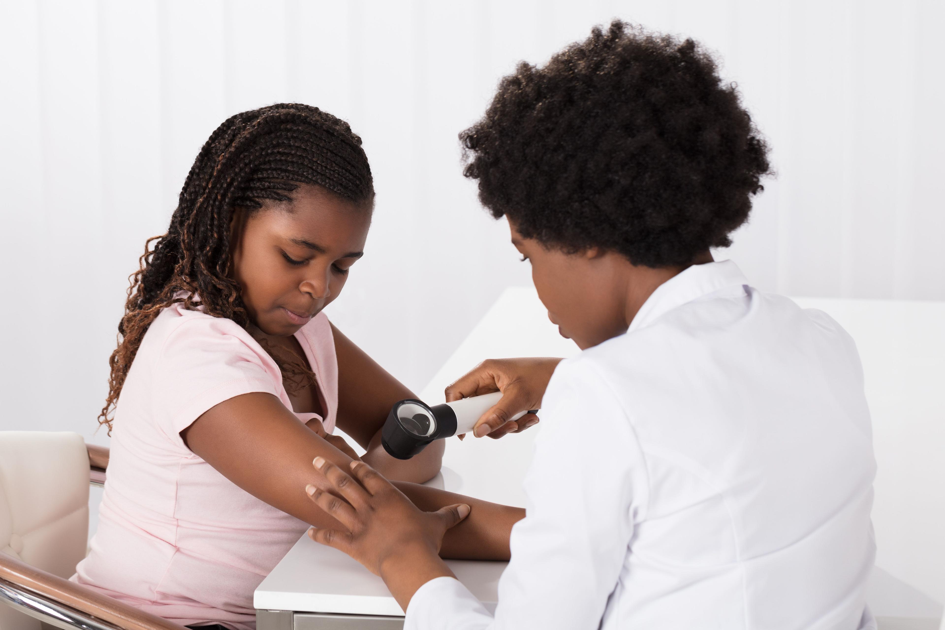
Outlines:
{"label": "white lab coat worn by the doctor, seen from behind", "polygon": [[491,615],[438,578],[411,630],[874,627],[875,462],[853,340],[700,264],[548,385]]}

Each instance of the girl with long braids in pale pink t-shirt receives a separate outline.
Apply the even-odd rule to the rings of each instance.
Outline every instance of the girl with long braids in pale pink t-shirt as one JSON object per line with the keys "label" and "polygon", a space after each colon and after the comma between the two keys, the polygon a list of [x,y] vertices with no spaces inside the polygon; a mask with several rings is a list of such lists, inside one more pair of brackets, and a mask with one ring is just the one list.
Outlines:
{"label": "girl with long braids in pale pink t-shirt", "polygon": [[[414,396],[322,313],[373,198],[360,139],[317,108],[246,111],[203,145],[118,327],[108,481],[74,580],[182,624],[253,627],[254,588],[309,525],[337,524],[302,491],[314,457],[356,458],[335,427],[424,509],[457,502],[416,484],[441,443],[405,462],[381,448],[390,406]],[[523,511],[474,504],[444,553],[507,558]]]}

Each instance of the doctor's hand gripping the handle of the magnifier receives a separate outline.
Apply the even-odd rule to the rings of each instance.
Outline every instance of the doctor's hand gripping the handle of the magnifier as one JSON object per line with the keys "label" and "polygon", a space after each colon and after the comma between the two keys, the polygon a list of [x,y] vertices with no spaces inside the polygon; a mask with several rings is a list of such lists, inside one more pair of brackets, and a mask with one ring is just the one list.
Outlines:
{"label": "doctor's hand gripping the handle of the magnifier", "polygon": [[446,401],[501,391],[502,399],[479,418],[472,434],[499,438],[505,434],[522,433],[538,424],[538,416],[525,414],[517,420],[509,418],[529,409],[541,408],[544,390],[561,361],[557,357],[483,361],[446,388]]}

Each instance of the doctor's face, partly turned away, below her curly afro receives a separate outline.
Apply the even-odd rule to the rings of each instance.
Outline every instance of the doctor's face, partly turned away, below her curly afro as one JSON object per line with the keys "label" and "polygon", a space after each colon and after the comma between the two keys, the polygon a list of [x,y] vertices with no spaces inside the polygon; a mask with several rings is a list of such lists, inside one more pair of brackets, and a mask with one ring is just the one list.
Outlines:
{"label": "doctor's face, partly turned away, below her curly afro", "polygon": [[567,254],[524,238],[509,219],[514,245],[531,262],[532,281],[548,318],[580,349],[627,332],[626,262],[597,250]]}

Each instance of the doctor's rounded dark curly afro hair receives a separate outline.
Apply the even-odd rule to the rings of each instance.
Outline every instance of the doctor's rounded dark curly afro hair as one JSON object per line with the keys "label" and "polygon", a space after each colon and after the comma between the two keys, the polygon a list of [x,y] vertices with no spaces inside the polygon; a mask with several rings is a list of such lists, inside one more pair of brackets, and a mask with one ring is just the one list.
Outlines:
{"label": "doctor's rounded dark curly afro hair", "polygon": [[764,190],[767,145],[691,39],[614,21],[502,79],[460,134],[464,175],[495,218],[546,247],[690,264],[731,245]]}

